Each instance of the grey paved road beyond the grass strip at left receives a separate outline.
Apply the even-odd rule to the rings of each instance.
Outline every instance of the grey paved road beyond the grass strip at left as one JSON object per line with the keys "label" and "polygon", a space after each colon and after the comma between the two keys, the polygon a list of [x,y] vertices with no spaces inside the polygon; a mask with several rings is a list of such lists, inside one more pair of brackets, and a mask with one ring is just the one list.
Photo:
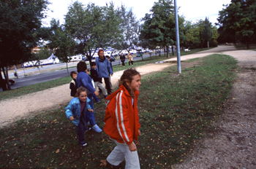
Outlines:
{"label": "grey paved road beyond the grass strip at left", "polygon": [[[163,54],[164,52],[162,52]],[[145,54],[143,55],[143,58],[148,58],[149,55]],[[133,60],[140,60],[141,58],[137,58],[134,57]],[[118,65],[119,60],[116,60],[115,62],[112,63],[113,66]],[[66,64],[66,63],[61,63],[61,64]],[[59,66],[61,66],[61,64],[58,64]],[[44,69],[47,68],[53,68],[53,66],[58,66],[58,65],[50,65],[50,66],[43,66]],[[74,66],[76,65],[76,63],[74,63]],[[70,66],[70,65],[69,65]],[[89,66],[90,68],[90,66]],[[69,68],[69,72],[70,71],[77,71],[77,68]],[[63,69],[63,70],[56,70],[56,71],[50,71],[50,72],[43,72],[41,74],[34,74],[31,76],[25,76],[19,79],[15,79],[15,84],[13,84],[11,86],[12,89],[16,89],[19,87],[24,87],[24,86],[29,86],[31,84],[37,84],[37,83],[41,83],[41,82],[48,82],[50,80],[53,79],[59,79],[62,77],[66,77],[67,76],[67,69]],[[0,92],[2,91],[2,88],[0,88]]]}

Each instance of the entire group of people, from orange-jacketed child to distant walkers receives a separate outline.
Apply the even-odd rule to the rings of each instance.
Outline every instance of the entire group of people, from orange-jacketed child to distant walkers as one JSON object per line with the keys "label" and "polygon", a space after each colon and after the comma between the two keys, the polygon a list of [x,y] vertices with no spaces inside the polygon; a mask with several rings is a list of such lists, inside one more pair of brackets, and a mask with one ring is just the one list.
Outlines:
{"label": "entire group of people, from orange-jacketed child to distant walkers", "polygon": [[[99,58],[91,63],[91,76],[89,76],[89,70],[84,61],[78,63],[78,73],[72,71],[70,74],[72,81],[69,88],[74,98],[65,108],[67,119],[77,127],[80,146],[88,145],[84,135],[86,130],[92,129],[96,133],[101,133],[102,129],[99,128],[94,117],[93,101],[94,98],[97,103],[100,103],[97,92],[97,88],[99,88],[107,103],[104,131],[116,143],[116,147],[105,162],[110,168],[119,168],[125,159],[126,168],[140,168],[135,145],[138,143],[138,136],[140,135],[137,107],[141,84],[140,74],[135,68],[125,70],[118,81],[119,89],[112,93],[110,82],[110,76],[113,76],[112,65],[109,57],[104,56],[103,50],[99,50],[98,55]],[[129,60],[131,60],[129,63],[132,63],[132,58]],[[102,78],[107,90],[102,84]]]}

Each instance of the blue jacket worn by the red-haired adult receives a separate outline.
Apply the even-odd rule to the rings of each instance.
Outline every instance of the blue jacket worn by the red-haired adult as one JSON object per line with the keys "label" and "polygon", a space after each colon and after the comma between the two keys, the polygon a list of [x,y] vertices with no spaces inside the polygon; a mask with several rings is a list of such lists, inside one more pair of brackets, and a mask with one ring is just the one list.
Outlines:
{"label": "blue jacket worn by the red-haired adult", "polygon": [[97,58],[95,60],[95,63],[99,78],[108,78],[109,74],[113,74],[113,71],[110,67],[110,63],[108,59],[105,58],[105,56],[103,59]]}

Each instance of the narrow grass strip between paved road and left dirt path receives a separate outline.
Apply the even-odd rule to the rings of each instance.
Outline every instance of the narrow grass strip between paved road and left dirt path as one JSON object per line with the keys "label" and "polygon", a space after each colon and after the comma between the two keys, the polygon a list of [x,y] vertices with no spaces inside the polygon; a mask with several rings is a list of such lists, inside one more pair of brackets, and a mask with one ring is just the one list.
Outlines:
{"label": "narrow grass strip between paved road and left dirt path", "polygon": [[[207,50],[207,48],[204,48],[202,50]],[[195,49],[195,50],[191,50],[190,52],[184,52],[181,51],[181,56],[182,55],[189,55],[195,52],[200,52],[202,51],[201,49]],[[164,55],[162,55],[162,57],[157,56],[152,56],[151,58],[145,58],[144,60],[136,60],[134,63],[134,67],[138,67],[138,66],[143,66],[146,65],[148,63],[154,63],[160,60],[165,60],[167,58],[163,57]],[[170,58],[176,57],[176,55],[170,55]],[[116,60],[118,62],[118,60]],[[127,65],[127,64],[126,64]],[[75,66],[72,66],[75,67]],[[121,71],[128,68],[128,66],[125,67],[121,67],[120,66],[113,66],[113,71]],[[7,99],[7,98],[13,98],[13,97],[18,97],[20,95],[27,95],[29,93],[35,93],[41,90],[46,90],[52,87],[57,87],[60,86],[62,84],[68,84],[71,81],[71,77],[67,76],[67,77],[63,77],[60,79],[55,79],[52,81],[48,81],[48,82],[42,82],[42,83],[38,83],[38,84],[32,84],[26,87],[20,87],[18,89],[15,90],[7,90],[4,92],[0,92],[0,101]]]}

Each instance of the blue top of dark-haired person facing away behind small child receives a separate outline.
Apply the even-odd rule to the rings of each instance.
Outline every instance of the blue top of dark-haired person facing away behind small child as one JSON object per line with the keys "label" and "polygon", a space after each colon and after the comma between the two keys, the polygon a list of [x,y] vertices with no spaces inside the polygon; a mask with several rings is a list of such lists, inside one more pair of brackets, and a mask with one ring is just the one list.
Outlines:
{"label": "blue top of dark-haired person facing away behind small child", "polygon": [[86,71],[80,71],[78,73],[76,81],[78,83],[78,88],[86,87],[87,95],[94,94],[95,90],[93,84],[91,83],[91,77],[88,74],[86,74]]}

